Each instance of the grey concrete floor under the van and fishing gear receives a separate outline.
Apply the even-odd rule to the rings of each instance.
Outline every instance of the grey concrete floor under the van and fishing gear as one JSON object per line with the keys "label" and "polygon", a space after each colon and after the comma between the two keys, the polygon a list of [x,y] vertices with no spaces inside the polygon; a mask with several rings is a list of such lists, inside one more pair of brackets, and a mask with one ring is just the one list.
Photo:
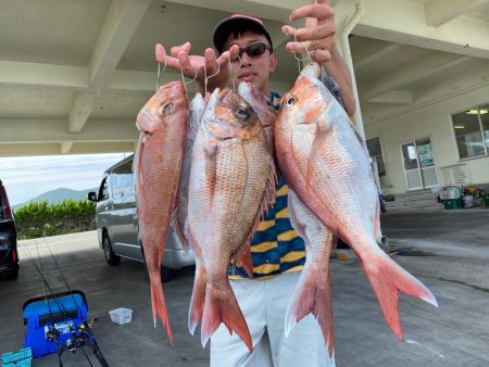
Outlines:
{"label": "grey concrete floor under the van and fishing gear", "polygon": [[[341,251],[350,258],[331,261],[337,365],[489,366],[489,210],[387,213],[381,223],[391,249],[399,250],[392,258],[431,290],[439,308],[402,295],[400,315],[408,342],[399,342],[358,261],[351,251]],[[49,250],[70,288],[86,293],[96,337],[111,366],[209,365],[209,347],[200,345],[199,331],[191,337],[187,330],[193,269],[178,270],[164,284],[175,344],[171,347],[161,325],[152,327],[146,267],[130,261],[106,266],[96,232],[22,242],[20,278],[0,281],[0,353],[22,347],[22,305],[43,294],[26,258],[27,250],[37,260],[38,248],[53,291],[65,287]],[[108,311],[121,306],[134,309],[130,324],[110,320]],[[65,353],[63,363],[89,366],[79,351]],[[34,362],[55,365],[54,355]]]}

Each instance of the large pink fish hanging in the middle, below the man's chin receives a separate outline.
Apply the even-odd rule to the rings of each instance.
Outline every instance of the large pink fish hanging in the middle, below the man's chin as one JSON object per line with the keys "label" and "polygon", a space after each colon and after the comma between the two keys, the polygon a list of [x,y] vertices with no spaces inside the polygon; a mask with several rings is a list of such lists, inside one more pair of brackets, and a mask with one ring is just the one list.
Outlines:
{"label": "large pink fish hanging in the middle, below the man's chin", "polygon": [[275,187],[274,161],[256,114],[233,90],[215,90],[193,144],[189,185],[188,237],[197,264],[189,330],[193,333],[202,319],[202,345],[224,322],[253,349],[227,271],[231,260],[239,265],[249,252]]}

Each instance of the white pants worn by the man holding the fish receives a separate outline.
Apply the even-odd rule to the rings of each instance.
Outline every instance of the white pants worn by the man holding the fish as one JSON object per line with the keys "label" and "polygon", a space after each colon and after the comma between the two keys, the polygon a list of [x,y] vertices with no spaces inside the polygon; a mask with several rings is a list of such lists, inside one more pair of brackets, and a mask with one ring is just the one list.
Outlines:
{"label": "white pants worn by the man holding the fish", "polygon": [[314,316],[304,317],[286,338],[285,315],[301,273],[269,280],[231,280],[231,287],[250,329],[253,352],[229,334],[224,324],[211,338],[211,367],[335,367]]}

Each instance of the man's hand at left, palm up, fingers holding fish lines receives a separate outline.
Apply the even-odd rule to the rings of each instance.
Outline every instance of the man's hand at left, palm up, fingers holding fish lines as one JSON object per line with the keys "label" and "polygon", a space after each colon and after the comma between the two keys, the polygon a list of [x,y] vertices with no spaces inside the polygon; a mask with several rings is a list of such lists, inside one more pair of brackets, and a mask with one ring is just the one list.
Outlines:
{"label": "man's hand at left, palm up, fingers holding fish lines", "polygon": [[158,43],[155,47],[156,61],[164,64],[166,58],[167,67],[178,73],[181,71],[189,79],[196,79],[202,96],[205,91],[205,76],[208,77],[208,92],[212,93],[215,88],[227,87],[231,75],[229,58],[237,59],[238,46],[233,46],[229,51],[223,52],[218,58],[211,48],[205,49],[203,56],[190,55],[189,52],[190,42],[172,47],[171,55],[166,53],[162,45]]}

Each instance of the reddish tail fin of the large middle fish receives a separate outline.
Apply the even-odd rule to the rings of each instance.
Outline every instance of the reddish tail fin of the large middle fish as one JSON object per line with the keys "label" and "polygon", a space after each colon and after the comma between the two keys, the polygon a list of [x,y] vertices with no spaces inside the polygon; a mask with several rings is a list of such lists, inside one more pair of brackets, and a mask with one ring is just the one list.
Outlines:
{"label": "reddish tail fin of the large middle fish", "polygon": [[[222,288],[223,284],[225,284],[224,289]],[[235,293],[227,281],[223,282],[220,289],[214,288],[212,284],[206,286],[201,328],[201,342],[203,346],[205,346],[211,336],[222,322],[226,325],[229,333],[236,332],[250,352],[253,351],[250,330],[239,308]]]}

